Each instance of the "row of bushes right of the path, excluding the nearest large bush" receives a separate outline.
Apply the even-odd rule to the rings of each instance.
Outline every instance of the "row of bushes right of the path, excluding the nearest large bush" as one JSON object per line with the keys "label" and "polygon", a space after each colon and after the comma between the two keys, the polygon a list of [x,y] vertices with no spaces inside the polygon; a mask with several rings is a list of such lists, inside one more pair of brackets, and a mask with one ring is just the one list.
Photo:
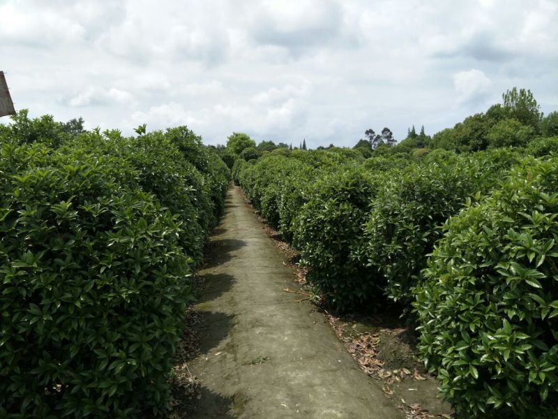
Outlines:
{"label": "row of bushes right of the path, excluding the nearest large bush", "polygon": [[[352,150],[349,150],[352,151]],[[497,184],[508,150],[420,161],[340,150],[237,161],[234,175],[271,226],[301,250],[308,280],[335,309],[406,306],[448,216]]]}

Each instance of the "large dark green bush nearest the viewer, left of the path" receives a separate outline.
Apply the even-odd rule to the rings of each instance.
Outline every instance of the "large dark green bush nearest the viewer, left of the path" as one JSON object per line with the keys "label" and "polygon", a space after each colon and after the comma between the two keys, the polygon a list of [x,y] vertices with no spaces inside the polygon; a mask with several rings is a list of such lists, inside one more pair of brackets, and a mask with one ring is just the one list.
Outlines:
{"label": "large dark green bush nearest the viewer, left of the path", "polygon": [[190,295],[179,222],[117,157],[0,148],[0,416],[159,413]]}

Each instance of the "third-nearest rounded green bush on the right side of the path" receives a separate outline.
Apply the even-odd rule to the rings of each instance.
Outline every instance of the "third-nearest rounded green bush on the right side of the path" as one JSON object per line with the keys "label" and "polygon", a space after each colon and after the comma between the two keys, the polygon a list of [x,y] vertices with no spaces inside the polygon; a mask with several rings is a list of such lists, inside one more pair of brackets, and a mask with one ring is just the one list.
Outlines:
{"label": "third-nearest rounded green bush on the right side of the path", "polygon": [[335,309],[383,299],[365,265],[351,257],[362,240],[361,225],[379,178],[361,167],[328,171],[308,186],[308,202],[294,220],[293,242],[308,265],[307,279]]}

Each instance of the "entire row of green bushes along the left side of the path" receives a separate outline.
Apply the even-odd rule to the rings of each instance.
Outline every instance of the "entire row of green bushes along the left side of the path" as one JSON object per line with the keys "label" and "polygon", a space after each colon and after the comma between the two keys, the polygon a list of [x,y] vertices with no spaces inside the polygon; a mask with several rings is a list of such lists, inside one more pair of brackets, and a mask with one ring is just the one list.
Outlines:
{"label": "entire row of green bushes along the left side of the path", "polygon": [[0,127],[0,416],[165,409],[190,274],[229,171],[186,127]]}

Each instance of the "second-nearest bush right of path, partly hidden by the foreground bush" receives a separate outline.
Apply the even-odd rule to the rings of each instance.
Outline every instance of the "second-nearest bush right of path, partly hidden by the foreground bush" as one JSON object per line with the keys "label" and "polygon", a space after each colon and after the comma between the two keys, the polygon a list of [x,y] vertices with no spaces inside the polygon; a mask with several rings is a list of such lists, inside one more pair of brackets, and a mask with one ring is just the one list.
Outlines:
{"label": "second-nearest bush right of path, partly hidden by the foreground bush", "polygon": [[440,226],[468,197],[497,186],[517,160],[505,149],[460,156],[439,151],[384,179],[367,214],[361,260],[384,275],[391,299],[409,307]]}

